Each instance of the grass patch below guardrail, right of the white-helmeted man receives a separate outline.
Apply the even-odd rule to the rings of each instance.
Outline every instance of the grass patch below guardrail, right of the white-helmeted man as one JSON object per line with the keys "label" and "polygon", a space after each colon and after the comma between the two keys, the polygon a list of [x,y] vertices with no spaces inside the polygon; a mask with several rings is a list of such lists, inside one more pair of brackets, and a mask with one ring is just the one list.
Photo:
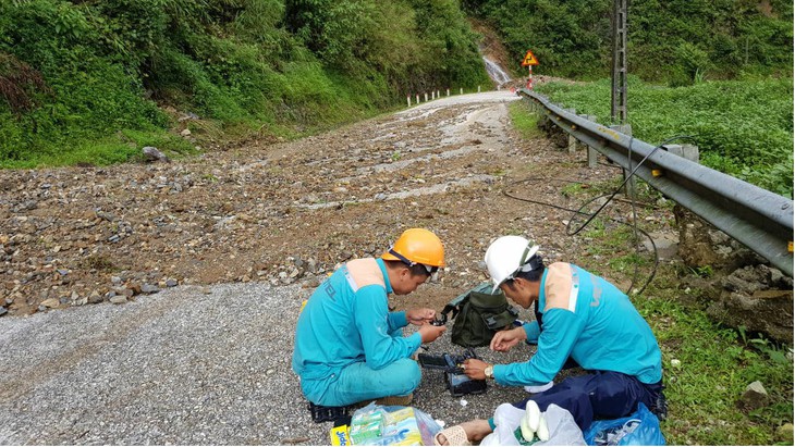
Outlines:
{"label": "grass patch below guardrail, right of the white-helmeted man", "polygon": [[[662,350],[669,419],[661,424],[671,445],[792,445],[776,433],[792,421],[793,351],[742,328],[721,326],[706,312],[683,305],[685,294],[663,285],[678,283],[664,265],[635,306],[649,322]],[[739,407],[751,382],[760,381],[769,405]]]}

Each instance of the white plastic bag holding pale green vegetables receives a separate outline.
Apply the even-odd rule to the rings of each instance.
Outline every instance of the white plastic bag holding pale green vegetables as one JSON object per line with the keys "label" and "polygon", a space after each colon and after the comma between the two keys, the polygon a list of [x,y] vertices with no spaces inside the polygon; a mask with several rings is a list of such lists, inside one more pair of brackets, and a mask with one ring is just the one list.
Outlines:
{"label": "white plastic bag holding pale green vegetables", "polygon": [[[502,403],[494,410],[494,432],[486,436],[481,446],[518,446],[519,442],[514,436],[514,431],[519,426],[519,421],[525,415],[525,410],[516,408],[511,403]],[[584,446],[583,431],[579,430],[574,417],[554,403],[543,412],[549,427],[549,440],[537,442],[533,446]]]}

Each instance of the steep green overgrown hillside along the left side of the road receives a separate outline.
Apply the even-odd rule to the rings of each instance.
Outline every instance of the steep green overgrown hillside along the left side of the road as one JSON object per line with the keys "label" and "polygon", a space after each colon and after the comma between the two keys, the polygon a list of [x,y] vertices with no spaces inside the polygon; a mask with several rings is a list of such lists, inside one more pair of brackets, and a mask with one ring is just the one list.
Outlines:
{"label": "steep green overgrown hillside along the left side of the road", "polygon": [[487,84],[477,40],[456,0],[4,0],[0,163],[192,150],[164,132],[185,115],[217,136],[350,121]]}

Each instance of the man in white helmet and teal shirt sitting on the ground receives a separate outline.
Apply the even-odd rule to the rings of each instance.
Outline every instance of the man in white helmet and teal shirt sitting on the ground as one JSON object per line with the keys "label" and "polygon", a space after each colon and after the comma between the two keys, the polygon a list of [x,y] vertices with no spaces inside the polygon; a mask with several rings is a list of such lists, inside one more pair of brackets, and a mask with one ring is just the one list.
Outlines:
{"label": "man in white helmet and teal shirt sitting on the ground", "polygon": [[[660,348],[629,298],[574,264],[545,266],[538,248],[524,237],[503,236],[489,246],[485,259],[494,291],[500,288],[525,309],[536,305],[536,321],[498,332],[490,348],[504,352],[519,342],[535,343],[536,355],[511,364],[469,359],[466,375],[525,386],[535,394],[515,407],[525,409],[533,399],[546,411],[554,403],[568,410],[583,431],[595,419],[625,417],[639,402],[664,417]],[[554,384],[562,369],[577,365],[587,373]],[[442,431],[437,442],[462,445],[493,430],[492,420],[474,420]]]}

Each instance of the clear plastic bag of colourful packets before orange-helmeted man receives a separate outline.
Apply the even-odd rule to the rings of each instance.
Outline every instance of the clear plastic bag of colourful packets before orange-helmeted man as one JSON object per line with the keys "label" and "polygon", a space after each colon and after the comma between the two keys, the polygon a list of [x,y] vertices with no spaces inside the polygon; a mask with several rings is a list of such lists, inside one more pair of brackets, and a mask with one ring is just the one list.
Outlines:
{"label": "clear plastic bag of colourful packets before orange-helmeted man", "polygon": [[432,446],[441,426],[414,407],[370,402],[351,417],[350,439],[367,446]]}

